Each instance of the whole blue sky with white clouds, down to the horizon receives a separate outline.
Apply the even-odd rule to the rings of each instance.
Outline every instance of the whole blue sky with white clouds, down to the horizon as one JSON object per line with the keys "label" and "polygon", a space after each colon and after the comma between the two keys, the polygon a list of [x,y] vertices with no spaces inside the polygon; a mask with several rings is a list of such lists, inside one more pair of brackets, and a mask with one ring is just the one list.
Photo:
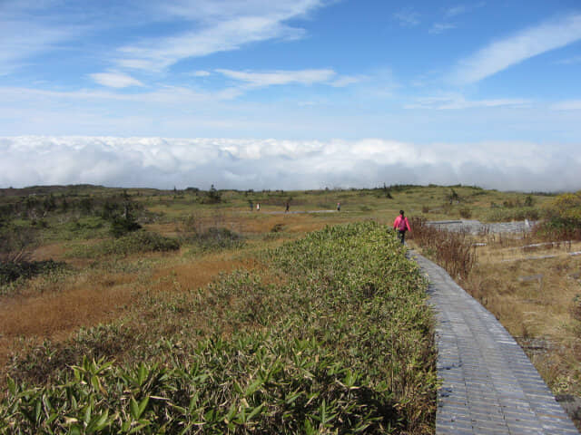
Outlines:
{"label": "whole blue sky with white clouds, down to the horizon", "polygon": [[[421,159],[410,161],[404,152],[401,160],[389,160],[409,169],[395,171],[397,177],[384,166],[371,179],[365,169],[345,168],[343,179],[365,185],[407,177],[500,189],[544,180],[547,189],[581,189],[573,176],[581,163],[577,0],[529,1],[526,7],[512,0],[0,0],[0,41],[0,150],[11,156],[4,165],[32,164],[18,160],[19,147],[32,143],[52,159],[70,161],[80,144],[94,149],[104,143],[127,160],[125,153],[142,150],[147,138],[238,140],[239,147],[270,147],[272,159],[300,155],[303,167],[313,164],[302,152],[307,144],[322,144],[317,150],[324,153],[338,143],[349,150],[372,142],[378,152],[399,143],[420,157],[453,149],[449,161],[422,164],[455,169],[447,178],[436,176],[448,170],[438,166],[426,179],[431,172],[419,169]],[[203,140],[188,142],[189,150],[202,152]],[[50,152],[43,148],[49,142]],[[287,142],[296,155],[277,154]],[[164,143],[182,158],[176,140]],[[489,155],[498,147],[539,150],[546,163],[532,167],[507,155],[506,161],[489,159],[492,166],[486,152],[474,160],[483,147]],[[368,159],[351,158],[361,167]],[[132,180],[147,184],[143,159],[141,169],[132,168],[143,175]],[[225,185],[261,188],[285,179],[280,182],[290,189],[306,182],[283,169],[272,179],[237,173],[241,178],[228,181],[228,163],[215,159],[206,175]],[[271,161],[252,159],[256,165]],[[129,182],[111,173],[87,179],[94,173],[88,169],[47,179],[43,161],[27,178],[0,175],[0,184]],[[463,164],[480,169],[470,176],[458,169]],[[561,167],[567,170],[558,180],[549,176]],[[508,177],[515,168],[523,169],[516,171],[518,180]],[[169,177],[178,169],[164,170]],[[184,180],[196,169],[188,170]],[[568,170],[572,178],[563,179]],[[337,169],[312,172],[332,179]],[[167,183],[182,182],[175,177]],[[312,187],[329,182],[314,175],[307,180]],[[167,187],[162,176],[155,182]]]}

